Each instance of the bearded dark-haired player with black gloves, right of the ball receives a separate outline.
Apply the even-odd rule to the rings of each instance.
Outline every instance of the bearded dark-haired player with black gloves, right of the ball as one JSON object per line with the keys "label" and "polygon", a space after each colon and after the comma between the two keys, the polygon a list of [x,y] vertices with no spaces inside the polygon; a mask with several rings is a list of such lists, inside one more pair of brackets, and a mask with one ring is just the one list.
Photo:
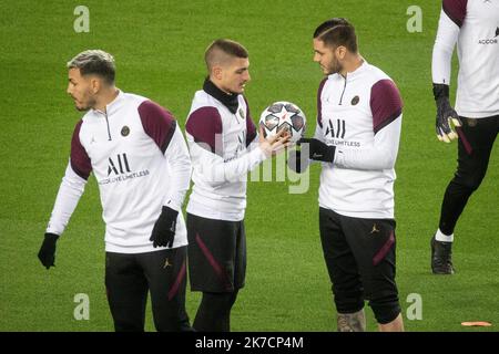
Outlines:
{"label": "bearded dark-haired player with black gloves, right of the ball", "polygon": [[360,56],[347,20],[322,23],[313,45],[314,61],[327,75],[317,94],[316,133],[299,142],[308,145],[308,156],[288,164],[302,171],[306,166],[296,162],[322,162],[319,230],[337,329],[365,331],[368,300],[380,331],[404,331],[394,220],[403,102],[391,79]]}

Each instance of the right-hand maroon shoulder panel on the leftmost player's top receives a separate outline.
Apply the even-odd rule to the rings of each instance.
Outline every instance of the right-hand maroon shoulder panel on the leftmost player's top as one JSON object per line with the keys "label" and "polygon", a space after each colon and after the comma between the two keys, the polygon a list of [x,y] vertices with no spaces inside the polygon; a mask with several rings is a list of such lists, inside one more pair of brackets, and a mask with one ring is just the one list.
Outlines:
{"label": "right-hand maroon shoulder panel on the leftmost player's top", "polygon": [[173,115],[152,101],[144,101],[139,106],[142,126],[164,154],[175,133],[176,121]]}

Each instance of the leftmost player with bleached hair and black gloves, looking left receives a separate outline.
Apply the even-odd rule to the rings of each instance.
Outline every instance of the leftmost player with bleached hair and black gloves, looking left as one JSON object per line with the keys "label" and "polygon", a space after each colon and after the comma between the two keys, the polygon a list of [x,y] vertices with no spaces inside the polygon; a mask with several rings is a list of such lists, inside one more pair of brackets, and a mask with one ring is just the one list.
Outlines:
{"label": "leftmost player with bleached hair and black gloves, looking left", "polygon": [[144,331],[147,292],[157,331],[190,331],[187,238],[180,212],[191,178],[176,121],[156,103],[114,85],[114,59],[100,50],[68,63],[78,111],[71,156],[38,257],[54,266],[64,231],[93,171],[105,222],[105,288],[115,331]]}

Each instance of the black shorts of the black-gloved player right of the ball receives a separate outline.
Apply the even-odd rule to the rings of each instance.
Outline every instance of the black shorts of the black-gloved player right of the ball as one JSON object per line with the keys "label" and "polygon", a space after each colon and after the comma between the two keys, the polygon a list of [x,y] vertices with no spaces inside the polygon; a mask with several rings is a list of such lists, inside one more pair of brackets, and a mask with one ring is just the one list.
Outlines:
{"label": "black shorts of the black-gloved player right of the ball", "polygon": [[398,303],[395,220],[352,218],[320,208],[319,229],[338,312],[359,311],[364,300]]}

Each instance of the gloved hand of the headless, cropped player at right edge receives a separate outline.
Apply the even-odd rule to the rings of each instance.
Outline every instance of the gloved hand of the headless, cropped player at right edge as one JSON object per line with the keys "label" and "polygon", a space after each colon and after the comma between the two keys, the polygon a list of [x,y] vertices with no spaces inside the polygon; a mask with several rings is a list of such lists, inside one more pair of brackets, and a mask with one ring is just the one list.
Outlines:
{"label": "gloved hand of the headless, cropped player at right edge", "polygon": [[457,139],[458,135],[452,131],[450,122],[455,126],[461,126],[461,119],[449,102],[449,85],[434,84],[434,96],[437,103],[437,137],[440,142],[450,143]]}

